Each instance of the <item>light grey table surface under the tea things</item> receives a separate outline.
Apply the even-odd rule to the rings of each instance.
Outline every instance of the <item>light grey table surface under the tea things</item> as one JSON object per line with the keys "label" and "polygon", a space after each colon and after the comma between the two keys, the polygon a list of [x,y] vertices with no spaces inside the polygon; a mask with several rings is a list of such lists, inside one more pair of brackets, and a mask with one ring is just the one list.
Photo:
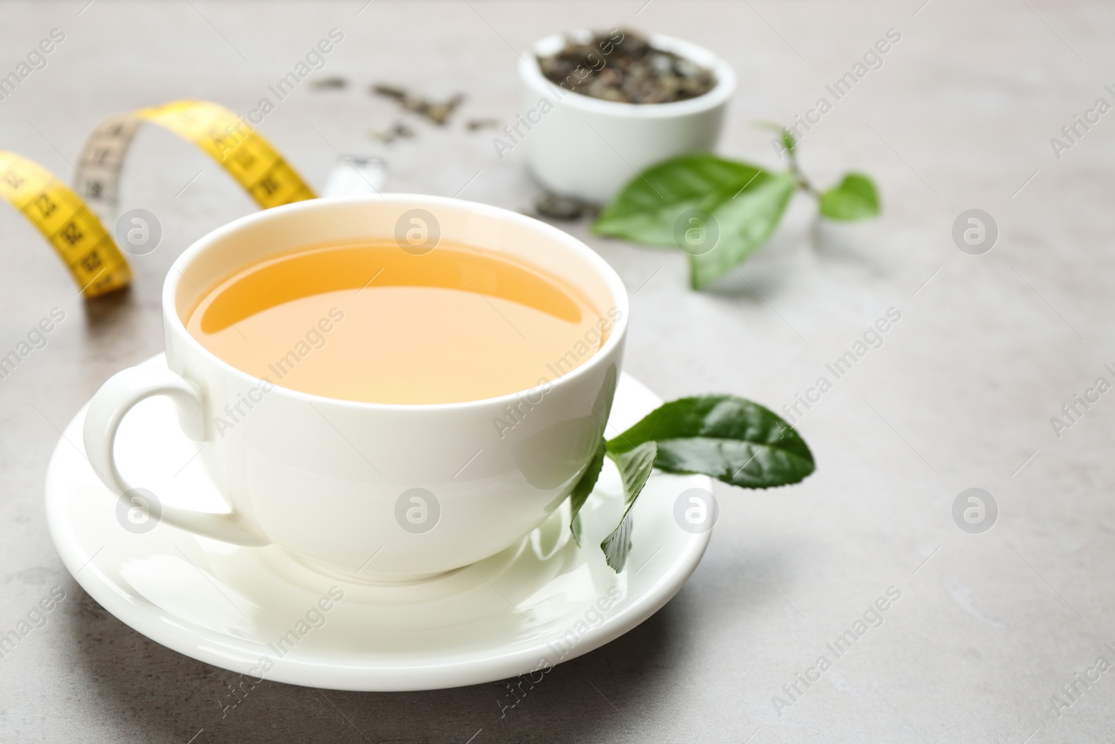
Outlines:
{"label": "light grey table surface under the tea things", "polygon": [[[266,683],[223,717],[232,673],[144,638],[84,593],[43,515],[58,428],[109,375],[161,349],[171,261],[254,206],[203,154],[142,131],[124,205],[156,213],[165,236],[133,260],[129,294],[86,303],[0,205],[0,350],[51,308],[66,313],[0,381],[0,631],[52,588],[66,592],[46,627],[0,659],[0,741],[1112,741],[1115,671],[1059,716],[1051,696],[1067,702],[1061,686],[1097,657],[1115,661],[1104,646],[1115,642],[1115,396],[1059,437],[1050,417],[1097,377],[1115,380],[1104,368],[1115,366],[1115,114],[1078,128],[1060,157],[1050,138],[1097,98],[1115,103],[1104,88],[1115,83],[1115,9],[922,2],[0,4],[0,73],[50,29],[66,33],[47,68],[0,102],[0,148],[67,181],[103,116],[187,97],[246,112],[336,27],[345,40],[316,76],[341,75],[349,88],[303,84],[260,127],[294,166],[320,187],[334,148],[378,154],[391,191],[463,189],[514,210],[537,193],[521,153],[501,162],[492,133],[464,122],[520,112],[515,50],[536,38],[629,25],[709,47],[739,75],[720,151],[777,166],[753,123],[804,114],[888,29],[901,33],[801,145],[822,184],[850,168],[872,174],[881,220],[818,228],[799,195],[772,242],[702,292],[687,288],[679,252],[563,225],[639,290],[626,368],[666,398],[723,390],[779,409],[888,308],[901,321],[798,423],[815,475],[775,492],[719,487],[720,522],[681,592],[561,665],[504,717],[497,683],[414,694]],[[409,118],[417,136],[385,146],[367,132],[401,117],[368,95],[376,81],[468,98],[450,126]],[[973,207],[999,228],[983,255],[951,238]],[[982,534],[951,513],[973,486],[999,506]],[[883,625],[776,706],[889,587],[901,599]]]}

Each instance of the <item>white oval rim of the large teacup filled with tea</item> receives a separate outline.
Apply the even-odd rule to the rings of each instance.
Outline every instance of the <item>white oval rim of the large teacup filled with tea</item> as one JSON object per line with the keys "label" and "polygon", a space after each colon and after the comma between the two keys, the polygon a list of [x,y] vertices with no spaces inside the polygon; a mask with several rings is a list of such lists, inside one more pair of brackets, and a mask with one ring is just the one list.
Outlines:
{"label": "white oval rim of the large teacup filled with tea", "polygon": [[[167,272],[166,280],[163,283],[163,318],[164,322],[173,327],[174,331],[178,334],[182,338],[186,340],[196,354],[201,354],[209,358],[211,361],[215,363],[219,367],[224,369],[226,373],[231,373],[235,377],[239,377],[245,384],[258,383],[259,378],[249,375],[239,367],[234,367],[221,357],[216,356],[209,349],[206,349],[197,339],[190,335],[186,330],[185,325],[182,322],[182,318],[178,316],[175,297],[178,291],[178,284],[185,279],[185,268],[192,263],[198,255],[203,254],[205,250],[212,245],[214,242],[225,240],[232,236],[234,233],[250,228],[259,222],[265,222],[268,220],[273,220],[277,216],[297,212],[313,211],[317,209],[330,209],[340,206],[342,204],[405,204],[409,207],[429,207],[436,209],[438,206],[445,207],[450,206],[453,209],[466,210],[473,213],[483,214],[493,219],[502,220],[505,222],[514,222],[520,225],[533,230],[535,232],[542,233],[544,236],[560,243],[563,248],[578,253],[581,258],[588,261],[598,272],[601,279],[608,287],[609,292],[611,292],[611,299],[617,310],[619,310],[620,317],[615,320],[612,328],[611,335],[604,345],[599,348],[584,364],[580,365],[575,369],[560,375],[559,377],[550,380],[550,384],[559,384],[563,381],[572,381],[582,375],[590,374],[590,371],[603,364],[603,360],[611,356],[611,351],[622,342],[624,335],[627,334],[628,317],[630,315],[630,305],[628,301],[627,288],[623,286],[623,281],[620,279],[615,270],[612,269],[611,264],[604,261],[600,254],[584,244],[582,241],[578,240],[568,232],[554,228],[551,224],[542,222],[541,220],[535,220],[534,218],[527,216],[525,214],[520,214],[518,212],[512,212],[511,210],[505,210],[500,206],[493,206],[491,204],[482,204],[479,202],[469,202],[463,199],[453,199],[449,196],[433,196],[429,194],[360,194],[355,196],[338,196],[330,199],[310,199],[301,202],[293,202],[291,204],[283,204],[281,206],[274,206],[269,210],[263,210],[260,212],[253,212],[251,214],[244,215],[232,222],[229,222],[205,235],[198,238],[194,241],[190,248],[184,250],[174,263],[171,264],[171,269]],[[380,238],[388,238],[388,235],[366,235],[365,238],[370,240],[376,240]],[[485,250],[484,247],[476,247],[481,250]],[[527,262],[529,263],[529,262]],[[233,270],[230,268],[230,271]],[[563,279],[563,281],[568,281]],[[195,288],[196,289],[196,288]],[[323,403],[323,404],[339,404],[347,406],[356,406],[358,408],[365,409],[378,409],[378,410],[403,410],[408,408],[414,409],[462,409],[471,407],[491,406],[493,404],[502,405],[504,403],[511,403],[522,397],[524,393],[536,389],[539,386],[524,388],[522,390],[515,390],[514,393],[508,393],[506,395],[501,395],[492,398],[479,398],[477,400],[460,400],[455,403],[367,403],[363,400],[348,400],[345,398],[333,398],[324,395],[317,395],[313,393],[303,393],[301,390],[294,390],[289,387],[283,387],[278,383],[274,383],[275,390],[281,390],[284,395],[293,397],[295,399],[308,400],[310,403]]]}

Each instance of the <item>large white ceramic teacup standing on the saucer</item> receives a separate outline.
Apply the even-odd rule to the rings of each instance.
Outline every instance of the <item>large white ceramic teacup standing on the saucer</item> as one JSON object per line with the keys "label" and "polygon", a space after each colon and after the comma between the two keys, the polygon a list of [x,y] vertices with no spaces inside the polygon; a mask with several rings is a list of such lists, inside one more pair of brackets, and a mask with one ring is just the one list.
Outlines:
{"label": "large white ceramic teacup standing on the saucer", "polygon": [[[413,210],[433,215],[436,224],[425,228],[440,241],[504,253],[579,288],[611,311],[607,342],[572,371],[572,360],[554,367],[565,374],[540,377],[531,390],[387,405],[271,386],[186,331],[201,291],[233,271],[310,244],[394,238],[399,225],[414,224]],[[169,368],[132,367],[105,383],[86,415],[86,454],[114,493],[143,487],[117,470],[114,438],[135,404],[167,396],[183,432],[201,443],[230,511],[163,505],[163,522],[236,544],[274,543],[349,578],[436,576],[508,548],[565,499],[611,409],[627,321],[627,292],[611,267],[575,238],[522,214],[409,194],[289,204],[215,230],[178,257],[163,288]],[[452,374],[453,360],[445,364]],[[215,423],[227,421],[226,406],[242,414],[232,428]]]}

